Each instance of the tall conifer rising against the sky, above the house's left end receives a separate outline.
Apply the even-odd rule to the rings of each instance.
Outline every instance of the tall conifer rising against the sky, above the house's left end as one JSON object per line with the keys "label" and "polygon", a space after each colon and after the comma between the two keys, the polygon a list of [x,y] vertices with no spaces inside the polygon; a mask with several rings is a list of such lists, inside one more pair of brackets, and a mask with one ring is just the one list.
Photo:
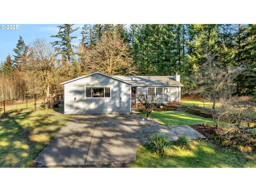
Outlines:
{"label": "tall conifer rising against the sky, above the house's left end", "polygon": [[79,27],[73,29],[72,26],[74,24],[65,24],[58,26],[59,32],[57,35],[52,35],[51,37],[59,38],[59,41],[55,41],[52,43],[53,46],[59,47],[59,49],[65,53],[65,58],[68,62],[74,59],[74,51],[71,44],[72,39],[77,38],[76,36],[71,36],[74,31],[76,31]]}

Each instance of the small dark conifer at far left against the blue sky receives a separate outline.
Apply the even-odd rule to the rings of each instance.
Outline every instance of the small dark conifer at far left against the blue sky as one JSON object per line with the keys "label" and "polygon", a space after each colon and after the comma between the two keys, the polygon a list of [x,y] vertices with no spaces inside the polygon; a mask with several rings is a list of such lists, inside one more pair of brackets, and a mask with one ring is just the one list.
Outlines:
{"label": "small dark conifer at far left against the blue sky", "polygon": [[21,68],[22,64],[25,62],[28,54],[28,46],[24,43],[23,38],[19,36],[18,43],[13,49],[15,55],[13,55],[13,67]]}

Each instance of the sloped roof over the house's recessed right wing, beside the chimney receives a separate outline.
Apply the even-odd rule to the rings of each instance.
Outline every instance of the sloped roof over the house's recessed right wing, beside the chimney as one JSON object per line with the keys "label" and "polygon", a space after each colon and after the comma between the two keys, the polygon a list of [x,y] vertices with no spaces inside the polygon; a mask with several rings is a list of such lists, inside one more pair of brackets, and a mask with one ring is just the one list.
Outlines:
{"label": "sloped roof over the house's recessed right wing, beside the chimney", "polygon": [[183,86],[173,76],[114,76],[136,86]]}

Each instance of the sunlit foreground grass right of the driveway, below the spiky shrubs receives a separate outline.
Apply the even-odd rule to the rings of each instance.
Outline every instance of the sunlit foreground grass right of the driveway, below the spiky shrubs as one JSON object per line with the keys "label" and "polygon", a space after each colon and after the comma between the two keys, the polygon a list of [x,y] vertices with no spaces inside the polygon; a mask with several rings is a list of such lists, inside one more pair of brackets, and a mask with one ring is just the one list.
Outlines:
{"label": "sunlit foreground grass right of the driveway, below the spiky shrubs", "polygon": [[256,167],[256,155],[220,149],[208,141],[195,140],[190,150],[173,145],[170,157],[166,158],[150,153],[148,145],[141,146],[132,167]]}

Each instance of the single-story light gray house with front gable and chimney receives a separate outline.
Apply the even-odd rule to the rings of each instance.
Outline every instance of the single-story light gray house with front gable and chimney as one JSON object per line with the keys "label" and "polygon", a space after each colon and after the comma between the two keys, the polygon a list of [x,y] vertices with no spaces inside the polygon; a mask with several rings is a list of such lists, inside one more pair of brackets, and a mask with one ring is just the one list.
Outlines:
{"label": "single-story light gray house with front gable and chimney", "polygon": [[141,91],[156,93],[158,103],[180,102],[180,75],[110,76],[100,72],[71,79],[64,85],[65,114],[126,114],[137,107]]}

